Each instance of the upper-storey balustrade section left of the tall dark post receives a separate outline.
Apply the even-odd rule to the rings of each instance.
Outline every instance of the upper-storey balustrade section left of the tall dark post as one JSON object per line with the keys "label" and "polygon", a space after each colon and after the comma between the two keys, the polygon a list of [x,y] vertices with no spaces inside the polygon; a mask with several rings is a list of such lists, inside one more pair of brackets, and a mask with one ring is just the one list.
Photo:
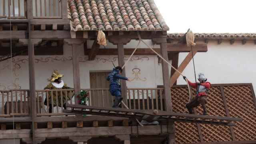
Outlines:
{"label": "upper-storey balustrade section left of the tall dark post", "polygon": [[0,18],[26,18],[26,0],[0,0]]}

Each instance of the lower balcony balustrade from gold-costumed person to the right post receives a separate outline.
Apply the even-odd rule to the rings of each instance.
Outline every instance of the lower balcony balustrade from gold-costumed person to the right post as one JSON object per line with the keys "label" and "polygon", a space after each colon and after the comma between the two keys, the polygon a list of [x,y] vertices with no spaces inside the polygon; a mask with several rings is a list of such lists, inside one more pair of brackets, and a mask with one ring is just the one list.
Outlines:
{"label": "lower balcony balustrade from gold-costumed person to the right post", "polygon": [[[88,92],[87,106],[112,107],[114,96],[108,88],[82,89]],[[130,109],[164,110],[164,94],[162,88],[130,88],[128,104]],[[70,98],[72,99],[70,100]],[[36,90],[37,116],[70,115],[62,112],[66,104],[75,104],[74,90]],[[51,109],[52,108],[52,112]]]}

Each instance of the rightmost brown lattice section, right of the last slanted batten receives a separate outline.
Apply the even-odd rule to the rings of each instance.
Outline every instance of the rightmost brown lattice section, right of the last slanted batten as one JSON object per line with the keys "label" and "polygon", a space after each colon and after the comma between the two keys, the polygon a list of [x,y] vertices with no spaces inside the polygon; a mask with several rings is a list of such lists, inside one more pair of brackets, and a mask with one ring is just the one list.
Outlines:
{"label": "rightmost brown lattice section, right of the last slanted batten", "polygon": [[230,116],[243,118],[236,122],[236,140],[256,140],[256,108],[250,86],[224,86]]}

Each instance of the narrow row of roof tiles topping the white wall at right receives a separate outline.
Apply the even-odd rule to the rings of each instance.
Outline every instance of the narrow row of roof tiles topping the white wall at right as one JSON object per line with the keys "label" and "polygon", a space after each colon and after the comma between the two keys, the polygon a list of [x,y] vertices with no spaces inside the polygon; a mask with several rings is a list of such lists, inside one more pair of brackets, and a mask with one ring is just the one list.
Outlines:
{"label": "narrow row of roof tiles topping the white wall at right", "polygon": [[[184,34],[182,33],[172,33],[168,34],[168,39],[180,39]],[[243,34],[216,34],[216,33],[195,33],[196,39],[256,39],[256,33],[243,33]]]}

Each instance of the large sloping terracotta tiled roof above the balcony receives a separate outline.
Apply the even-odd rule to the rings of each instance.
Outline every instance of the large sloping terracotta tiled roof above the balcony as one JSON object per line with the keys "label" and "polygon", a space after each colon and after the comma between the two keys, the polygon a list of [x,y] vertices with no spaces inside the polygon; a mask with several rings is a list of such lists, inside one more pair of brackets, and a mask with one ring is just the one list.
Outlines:
{"label": "large sloping terracotta tiled roof above the balcony", "polygon": [[167,31],[154,0],[68,0],[73,31]]}

